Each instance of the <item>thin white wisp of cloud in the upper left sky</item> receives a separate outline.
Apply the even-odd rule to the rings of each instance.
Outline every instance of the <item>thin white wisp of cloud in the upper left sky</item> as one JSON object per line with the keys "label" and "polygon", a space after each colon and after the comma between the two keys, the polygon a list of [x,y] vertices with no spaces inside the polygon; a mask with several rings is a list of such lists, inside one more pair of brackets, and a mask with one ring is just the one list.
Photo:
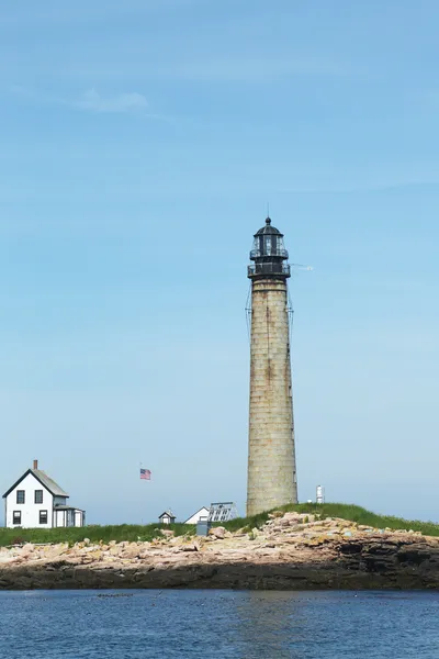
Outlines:
{"label": "thin white wisp of cloud in the upper left sky", "polygon": [[36,92],[24,87],[12,87],[11,93],[22,99],[40,101],[43,103],[53,103],[67,105],[85,112],[94,114],[137,114],[142,116],[157,118],[158,115],[149,112],[149,104],[146,98],[137,91],[119,92],[115,94],[103,96],[94,88],[88,89],[79,96],[56,96],[45,92]]}

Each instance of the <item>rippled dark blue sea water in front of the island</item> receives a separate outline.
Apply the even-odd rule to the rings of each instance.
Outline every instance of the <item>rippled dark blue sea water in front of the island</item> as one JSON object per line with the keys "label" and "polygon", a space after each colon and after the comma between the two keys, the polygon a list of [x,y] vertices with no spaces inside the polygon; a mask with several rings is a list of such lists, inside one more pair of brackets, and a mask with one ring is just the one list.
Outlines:
{"label": "rippled dark blue sea water in front of the island", "polygon": [[431,592],[0,592],[1,659],[439,658]]}

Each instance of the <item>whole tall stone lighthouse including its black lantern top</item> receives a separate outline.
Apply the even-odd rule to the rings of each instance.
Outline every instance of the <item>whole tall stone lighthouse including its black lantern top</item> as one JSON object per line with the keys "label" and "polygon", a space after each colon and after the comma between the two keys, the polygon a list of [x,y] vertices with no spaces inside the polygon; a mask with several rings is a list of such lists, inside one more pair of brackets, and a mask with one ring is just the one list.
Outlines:
{"label": "whole tall stone lighthouse including its black lantern top", "polygon": [[283,234],[266,225],[255,234],[251,279],[250,418],[247,515],[297,503],[290,362],[290,277]]}

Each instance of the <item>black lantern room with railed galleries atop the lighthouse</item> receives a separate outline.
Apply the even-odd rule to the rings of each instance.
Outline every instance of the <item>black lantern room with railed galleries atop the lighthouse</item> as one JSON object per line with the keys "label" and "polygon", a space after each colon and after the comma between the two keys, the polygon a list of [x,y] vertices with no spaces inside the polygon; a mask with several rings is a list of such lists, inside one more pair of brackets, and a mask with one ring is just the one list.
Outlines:
{"label": "black lantern room with railed galleries atop the lighthouse", "polygon": [[286,263],[289,254],[283,244],[283,234],[275,226],[271,226],[270,217],[267,217],[266,225],[254,237],[250,260],[255,261],[255,265],[248,267],[248,277],[290,277],[290,266]]}

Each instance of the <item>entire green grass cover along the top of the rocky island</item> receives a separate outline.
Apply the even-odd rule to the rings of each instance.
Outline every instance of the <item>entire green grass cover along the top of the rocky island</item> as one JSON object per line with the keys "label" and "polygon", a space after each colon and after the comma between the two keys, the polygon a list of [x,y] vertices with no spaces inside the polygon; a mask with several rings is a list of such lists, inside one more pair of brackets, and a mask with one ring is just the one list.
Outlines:
{"label": "entire green grass cover along the top of the rocky island", "polygon": [[[439,536],[439,524],[432,522],[419,522],[403,520],[399,517],[387,517],[378,515],[365,509],[346,503],[324,503],[322,505],[301,503],[297,505],[286,505],[279,510],[297,511],[300,513],[318,514],[325,517],[341,517],[358,524],[364,524],[375,528],[406,528],[420,530],[424,535]],[[269,512],[260,513],[252,517],[239,517],[226,522],[224,526],[228,530],[237,530],[246,528],[250,530],[255,527],[260,527],[269,518]],[[219,526],[217,524],[216,526]],[[115,540],[137,541],[151,540],[160,537],[162,526],[155,524],[135,525],[121,524],[117,526],[85,526],[83,528],[1,528],[0,529],[0,547],[10,545],[21,545],[23,543],[45,544],[45,543],[69,543],[75,544],[89,538],[91,543],[109,543]],[[175,532],[176,535],[194,535],[195,527],[189,524],[171,524],[166,526]]]}

